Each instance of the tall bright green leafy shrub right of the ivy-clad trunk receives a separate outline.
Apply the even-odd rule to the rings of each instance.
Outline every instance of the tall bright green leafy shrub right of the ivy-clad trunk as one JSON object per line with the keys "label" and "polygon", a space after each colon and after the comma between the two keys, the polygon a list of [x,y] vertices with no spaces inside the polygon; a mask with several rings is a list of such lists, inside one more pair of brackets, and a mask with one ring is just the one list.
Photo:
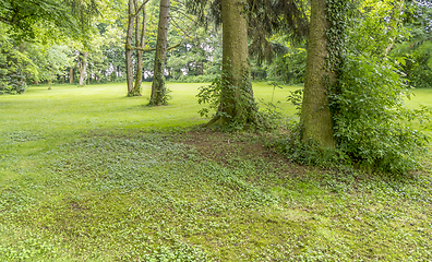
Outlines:
{"label": "tall bright green leafy shrub right of the ivy-clad trunk", "polygon": [[[395,27],[399,4],[364,1],[360,5],[364,14],[361,22],[356,16],[348,22],[351,29],[346,34],[346,47],[341,46],[345,57],[338,67],[338,85],[332,87],[329,97],[340,156],[389,172],[418,168],[428,142],[424,134],[410,127],[411,121],[428,119],[428,111],[405,107],[404,97],[410,93],[400,69],[383,59],[393,37],[404,32]],[[384,15],[391,19],[376,25]],[[359,37],[374,40],[359,41]]]}

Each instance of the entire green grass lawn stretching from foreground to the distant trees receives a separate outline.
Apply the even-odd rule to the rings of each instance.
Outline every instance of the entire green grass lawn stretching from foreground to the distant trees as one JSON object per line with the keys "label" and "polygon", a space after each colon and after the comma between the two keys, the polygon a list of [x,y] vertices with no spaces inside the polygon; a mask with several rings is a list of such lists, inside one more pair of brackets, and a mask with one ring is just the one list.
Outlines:
{"label": "entire green grass lawn stretching from foreground to the distant trees", "polygon": [[0,96],[0,261],[432,261],[429,160],[403,178],[293,165],[266,134],[191,130],[199,86],[170,83],[163,107],[148,84]]}

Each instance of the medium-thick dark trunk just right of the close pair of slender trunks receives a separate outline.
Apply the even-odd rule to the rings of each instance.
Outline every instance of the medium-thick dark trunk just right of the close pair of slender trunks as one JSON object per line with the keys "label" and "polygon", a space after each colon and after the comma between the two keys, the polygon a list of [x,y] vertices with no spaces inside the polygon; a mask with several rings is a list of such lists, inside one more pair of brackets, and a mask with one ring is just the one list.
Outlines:
{"label": "medium-thick dark trunk just right of the close pair of slender trunks", "polygon": [[167,36],[168,36],[168,15],[169,0],[160,0],[159,9],[159,27],[157,31],[157,44],[155,55],[155,67],[152,84],[152,96],[149,105],[160,106],[166,104],[167,88],[165,86],[165,59],[167,55]]}

